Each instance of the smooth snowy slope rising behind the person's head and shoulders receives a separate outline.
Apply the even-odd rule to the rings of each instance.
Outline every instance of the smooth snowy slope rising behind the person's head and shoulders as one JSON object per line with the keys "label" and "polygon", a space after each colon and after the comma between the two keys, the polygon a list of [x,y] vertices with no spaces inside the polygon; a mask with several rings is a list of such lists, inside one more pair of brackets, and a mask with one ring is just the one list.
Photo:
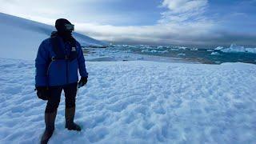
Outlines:
{"label": "smooth snowy slope rising behind the person's head and shoulders", "polygon": [[[0,58],[32,60],[42,40],[50,37],[54,26],[0,13],[0,30]],[[82,34],[73,35],[82,46],[106,45]]]}

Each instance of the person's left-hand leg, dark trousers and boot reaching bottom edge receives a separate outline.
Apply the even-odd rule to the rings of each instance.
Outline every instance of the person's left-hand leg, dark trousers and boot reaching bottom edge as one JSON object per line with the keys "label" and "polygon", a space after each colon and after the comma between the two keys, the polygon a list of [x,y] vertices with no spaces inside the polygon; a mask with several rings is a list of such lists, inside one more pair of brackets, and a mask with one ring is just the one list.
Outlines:
{"label": "person's left-hand leg, dark trousers and boot reaching bottom edge", "polygon": [[57,114],[58,104],[62,94],[62,87],[50,87],[50,98],[45,110],[46,130],[42,134],[41,143],[47,143],[54,133],[54,122]]}

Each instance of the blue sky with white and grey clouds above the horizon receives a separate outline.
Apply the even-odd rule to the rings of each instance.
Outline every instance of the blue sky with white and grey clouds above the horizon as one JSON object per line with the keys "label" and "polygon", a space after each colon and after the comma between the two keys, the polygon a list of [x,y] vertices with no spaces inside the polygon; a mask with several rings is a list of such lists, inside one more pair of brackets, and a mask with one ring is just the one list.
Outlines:
{"label": "blue sky with white and grey clouds above the horizon", "polygon": [[122,44],[256,46],[256,0],[0,0],[2,13]]}

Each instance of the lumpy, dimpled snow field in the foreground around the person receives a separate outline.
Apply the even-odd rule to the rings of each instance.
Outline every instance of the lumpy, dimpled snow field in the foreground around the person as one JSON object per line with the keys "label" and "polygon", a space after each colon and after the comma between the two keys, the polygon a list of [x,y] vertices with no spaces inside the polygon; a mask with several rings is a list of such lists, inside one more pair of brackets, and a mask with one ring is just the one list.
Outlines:
{"label": "lumpy, dimpled snow field in the foreground around the person", "polygon": [[[75,121],[64,99],[50,143],[255,143],[256,66],[87,62]],[[34,92],[34,62],[0,59],[0,143],[38,143],[46,102]]]}

